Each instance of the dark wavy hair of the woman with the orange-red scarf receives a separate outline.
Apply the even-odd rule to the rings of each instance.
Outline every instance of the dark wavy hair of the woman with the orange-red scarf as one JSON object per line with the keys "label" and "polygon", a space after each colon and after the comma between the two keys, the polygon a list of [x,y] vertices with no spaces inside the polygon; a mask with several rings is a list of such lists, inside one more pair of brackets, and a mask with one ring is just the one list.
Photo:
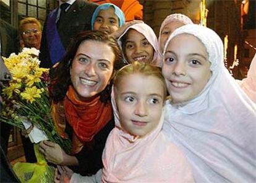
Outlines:
{"label": "dark wavy hair of the woman with the orange-red scarf", "polygon": [[[97,30],[88,30],[79,33],[75,38],[72,39],[69,47],[67,48],[67,53],[64,58],[59,62],[59,65],[53,70],[51,75],[51,86],[50,96],[54,102],[58,102],[64,99],[69,85],[72,85],[70,79],[70,67],[72,66],[72,61],[77,53],[77,49],[83,41],[92,40],[101,43],[106,43],[113,49],[115,59],[114,59],[114,69],[111,76],[111,82],[109,85],[101,91],[101,101],[108,102],[110,100],[111,85],[116,71],[121,69],[122,64],[122,53],[117,41],[108,34],[100,32]],[[100,50],[99,50],[100,51]]]}

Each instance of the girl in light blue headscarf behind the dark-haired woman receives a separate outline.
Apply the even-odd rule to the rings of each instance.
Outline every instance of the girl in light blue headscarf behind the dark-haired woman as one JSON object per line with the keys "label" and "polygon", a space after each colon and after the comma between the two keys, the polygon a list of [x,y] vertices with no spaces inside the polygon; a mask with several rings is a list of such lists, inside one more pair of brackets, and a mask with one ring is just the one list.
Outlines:
{"label": "girl in light blue headscarf behind the dark-haired woman", "polygon": [[126,22],[124,12],[112,3],[98,6],[92,15],[92,30],[100,30],[111,34]]}

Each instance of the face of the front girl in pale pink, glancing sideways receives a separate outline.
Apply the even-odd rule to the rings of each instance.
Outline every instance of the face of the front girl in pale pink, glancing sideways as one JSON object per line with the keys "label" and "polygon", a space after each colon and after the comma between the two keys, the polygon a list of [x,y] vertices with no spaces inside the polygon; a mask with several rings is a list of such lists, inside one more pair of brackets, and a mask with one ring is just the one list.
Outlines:
{"label": "face of the front girl in pale pink, glancing sideways", "polygon": [[122,129],[143,137],[156,128],[164,103],[164,86],[160,79],[129,74],[121,79],[116,93]]}

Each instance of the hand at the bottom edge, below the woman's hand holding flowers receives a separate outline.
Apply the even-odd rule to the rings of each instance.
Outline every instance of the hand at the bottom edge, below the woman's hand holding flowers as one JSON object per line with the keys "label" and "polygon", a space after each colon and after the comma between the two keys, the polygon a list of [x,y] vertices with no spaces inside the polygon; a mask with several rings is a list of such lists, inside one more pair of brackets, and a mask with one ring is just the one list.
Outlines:
{"label": "hand at the bottom edge, below the woman's hand holding flowers", "polygon": [[57,166],[54,174],[55,183],[69,183],[74,172],[67,166]]}

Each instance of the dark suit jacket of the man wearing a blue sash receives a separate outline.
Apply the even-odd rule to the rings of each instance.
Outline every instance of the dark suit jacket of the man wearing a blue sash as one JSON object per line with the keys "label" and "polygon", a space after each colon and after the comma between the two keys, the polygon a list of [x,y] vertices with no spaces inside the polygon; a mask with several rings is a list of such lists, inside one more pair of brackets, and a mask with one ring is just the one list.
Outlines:
{"label": "dark suit jacket of the man wearing a blue sash", "polygon": [[[64,17],[59,22],[58,32],[61,38],[62,44],[65,49],[69,46],[70,38],[73,38],[77,33],[83,30],[90,30],[90,21],[92,14],[98,5],[92,2],[86,2],[84,0],[76,0],[67,10]],[[58,7],[59,8],[59,7]],[[57,8],[57,9],[58,9]],[[50,68],[53,66],[49,57],[48,42],[46,36],[47,21],[43,28],[43,35],[41,40],[39,59],[41,61],[40,66]]]}

